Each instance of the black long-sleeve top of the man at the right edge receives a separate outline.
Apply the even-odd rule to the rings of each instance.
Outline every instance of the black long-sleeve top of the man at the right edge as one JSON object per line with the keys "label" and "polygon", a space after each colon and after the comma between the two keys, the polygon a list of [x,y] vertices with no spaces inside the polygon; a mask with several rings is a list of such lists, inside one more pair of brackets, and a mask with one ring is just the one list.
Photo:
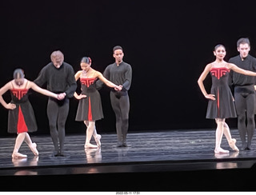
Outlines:
{"label": "black long-sleeve top of the man at the right edge", "polygon": [[[235,64],[239,68],[244,70],[250,70],[256,72],[256,58],[252,57],[250,54],[242,60],[240,55],[230,58],[230,63]],[[238,74],[233,70],[230,71],[230,85],[233,86],[250,86],[256,84],[256,78],[252,76],[247,76],[244,74]]]}

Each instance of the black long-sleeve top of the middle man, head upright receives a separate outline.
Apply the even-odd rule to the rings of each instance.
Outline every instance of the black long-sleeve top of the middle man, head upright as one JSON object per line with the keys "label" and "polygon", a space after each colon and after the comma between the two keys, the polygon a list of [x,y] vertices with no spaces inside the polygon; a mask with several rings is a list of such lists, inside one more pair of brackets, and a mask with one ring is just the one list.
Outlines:
{"label": "black long-sleeve top of the middle man, head upright", "polygon": [[[110,82],[113,82],[115,85],[121,85],[122,90],[130,90],[132,79],[132,68],[130,64],[121,62],[119,66],[117,66],[117,63],[114,62],[113,64],[106,66],[103,76]],[[98,81],[97,88],[99,89],[102,84],[102,81]]]}

